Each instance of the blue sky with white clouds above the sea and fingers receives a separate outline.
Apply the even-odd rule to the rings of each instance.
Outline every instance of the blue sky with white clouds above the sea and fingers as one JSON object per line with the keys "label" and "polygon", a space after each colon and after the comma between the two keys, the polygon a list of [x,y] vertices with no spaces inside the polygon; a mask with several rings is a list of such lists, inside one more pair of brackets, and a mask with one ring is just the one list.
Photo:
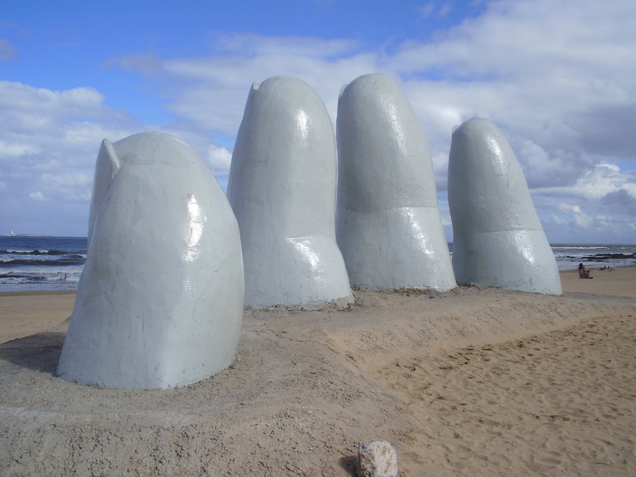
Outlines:
{"label": "blue sky with white clouds above the sea and fingers", "polygon": [[452,238],[452,127],[501,128],[550,242],[636,242],[636,5],[607,0],[0,4],[0,233],[86,235],[102,139],[173,134],[225,186],[252,81],[394,78]]}

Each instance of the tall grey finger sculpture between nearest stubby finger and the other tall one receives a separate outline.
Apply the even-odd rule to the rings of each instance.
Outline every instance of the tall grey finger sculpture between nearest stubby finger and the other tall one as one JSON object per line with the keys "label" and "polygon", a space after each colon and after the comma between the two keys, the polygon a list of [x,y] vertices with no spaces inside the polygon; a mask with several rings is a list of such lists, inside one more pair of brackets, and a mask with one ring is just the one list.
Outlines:
{"label": "tall grey finger sculpture between nearest stubby finger and the other tall one", "polygon": [[228,199],[239,221],[245,305],[353,301],[335,237],[336,144],[329,114],[300,79],[254,83]]}

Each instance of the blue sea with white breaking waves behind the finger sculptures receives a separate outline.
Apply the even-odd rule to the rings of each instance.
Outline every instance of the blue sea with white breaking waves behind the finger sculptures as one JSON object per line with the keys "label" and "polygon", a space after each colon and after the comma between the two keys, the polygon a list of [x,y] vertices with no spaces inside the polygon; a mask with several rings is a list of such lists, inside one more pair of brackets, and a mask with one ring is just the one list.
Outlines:
{"label": "blue sea with white breaking waves behind the finger sculptures", "polygon": [[[74,290],[86,237],[0,236],[0,292]],[[453,244],[448,244],[452,253]],[[559,270],[636,265],[636,244],[551,244]]]}

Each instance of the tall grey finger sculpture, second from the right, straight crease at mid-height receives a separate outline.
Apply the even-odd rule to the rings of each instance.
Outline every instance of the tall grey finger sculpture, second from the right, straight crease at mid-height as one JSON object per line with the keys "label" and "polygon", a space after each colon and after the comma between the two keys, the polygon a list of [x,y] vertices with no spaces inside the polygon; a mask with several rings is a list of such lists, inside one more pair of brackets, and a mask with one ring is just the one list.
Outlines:
{"label": "tall grey finger sculpture, second from the right, straight crease at mid-height", "polygon": [[395,81],[343,86],[336,134],[336,237],[351,284],[454,288],[428,142]]}

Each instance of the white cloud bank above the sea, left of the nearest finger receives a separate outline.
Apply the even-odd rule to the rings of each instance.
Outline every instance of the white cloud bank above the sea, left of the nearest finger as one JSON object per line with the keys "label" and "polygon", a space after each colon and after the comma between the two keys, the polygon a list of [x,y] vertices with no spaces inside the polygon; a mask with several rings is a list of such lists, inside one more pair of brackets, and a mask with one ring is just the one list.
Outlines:
{"label": "white cloud bank above the sea, left of the nearest finger", "polygon": [[53,91],[0,81],[2,223],[29,223],[24,233],[85,233],[99,144],[134,127],[103,100],[92,88]]}

